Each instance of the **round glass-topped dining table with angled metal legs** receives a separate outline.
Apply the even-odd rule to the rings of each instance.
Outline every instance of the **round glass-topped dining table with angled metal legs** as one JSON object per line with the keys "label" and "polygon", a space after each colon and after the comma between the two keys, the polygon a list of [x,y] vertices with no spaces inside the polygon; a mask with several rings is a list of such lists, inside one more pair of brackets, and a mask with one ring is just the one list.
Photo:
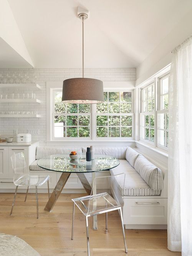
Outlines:
{"label": "round glass-topped dining table with angled metal legs", "polygon": [[[74,160],[71,160],[69,155],[47,156],[46,158],[38,160],[37,165],[45,170],[62,173],[45,206],[45,211],[51,211],[71,173],[76,173],[84,189],[86,190],[86,193],[90,195],[92,188],[84,174],[89,172],[92,173],[93,184],[96,172],[106,171],[118,166],[119,160],[112,156],[95,155],[94,160],[88,162],[86,161],[86,154],[80,153],[77,155],[77,159]],[[93,229],[97,229],[96,216],[94,216]]]}

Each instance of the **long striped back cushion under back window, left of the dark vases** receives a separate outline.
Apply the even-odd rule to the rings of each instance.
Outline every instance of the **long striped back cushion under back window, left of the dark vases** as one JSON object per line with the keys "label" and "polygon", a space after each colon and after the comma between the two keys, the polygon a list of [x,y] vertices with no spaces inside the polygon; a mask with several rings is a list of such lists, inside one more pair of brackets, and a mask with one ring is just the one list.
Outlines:
{"label": "long striped back cushion under back window, left of the dark vases", "polygon": [[71,151],[82,153],[82,148],[53,148],[53,147],[36,147],[36,160],[50,155],[70,154]]}

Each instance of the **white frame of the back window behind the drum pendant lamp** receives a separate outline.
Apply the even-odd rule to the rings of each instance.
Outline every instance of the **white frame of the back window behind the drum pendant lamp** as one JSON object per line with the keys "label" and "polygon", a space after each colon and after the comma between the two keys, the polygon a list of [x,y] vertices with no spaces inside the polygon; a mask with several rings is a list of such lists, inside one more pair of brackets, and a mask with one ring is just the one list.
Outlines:
{"label": "white frame of the back window behind the drum pendant lamp", "polygon": [[[123,87],[121,88],[107,88],[104,89],[104,91],[131,91],[132,92],[132,113],[128,113],[128,115],[132,115],[132,138],[128,138],[128,137],[96,137],[96,104],[90,104],[90,111],[91,111],[91,124],[90,125],[90,138],[86,138],[86,137],[74,137],[74,138],[70,138],[70,137],[65,137],[65,138],[54,138],[53,139],[53,115],[54,114],[54,108],[53,108],[53,90],[62,90],[62,82],[47,82],[46,83],[46,120],[41,120],[43,122],[46,121],[46,142],[62,142],[62,141],[106,141],[106,142],[110,142],[110,141],[133,141],[134,140],[134,110],[135,110],[135,105],[134,105],[134,95],[135,95],[135,90],[134,88],[131,88],[129,90],[124,89]],[[70,114],[70,113],[69,113]],[[104,114],[104,113],[103,113]],[[113,113],[110,113],[113,114]],[[115,115],[116,113],[114,113]],[[127,115],[126,113],[124,113],[125,115]],[[76,115],[76,113],[75,113]],[[105,114],[104,114],[105,115]]]}

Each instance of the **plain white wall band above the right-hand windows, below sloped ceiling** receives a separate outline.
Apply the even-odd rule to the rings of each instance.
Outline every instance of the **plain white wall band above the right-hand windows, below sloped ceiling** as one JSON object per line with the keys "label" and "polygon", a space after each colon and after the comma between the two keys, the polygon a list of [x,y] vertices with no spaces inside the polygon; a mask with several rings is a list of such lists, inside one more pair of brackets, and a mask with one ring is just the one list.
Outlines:
{"label": "plain white wall band above the right-hand windows, below sloped ceiling", "polygon": [[[158,31],[156,32],[158,33]],[[171,62],[171,51],[192,34],[192,10],[161,41],[151,54],[137,67],[136,86],[150,78]],[[155,36],[155,35],[154,35]]]}

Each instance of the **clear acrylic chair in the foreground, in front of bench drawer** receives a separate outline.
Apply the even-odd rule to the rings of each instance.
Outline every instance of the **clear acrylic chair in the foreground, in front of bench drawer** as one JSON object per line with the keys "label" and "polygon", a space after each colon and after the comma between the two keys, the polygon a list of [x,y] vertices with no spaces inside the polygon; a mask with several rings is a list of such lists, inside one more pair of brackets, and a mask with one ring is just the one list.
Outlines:
{"label": "clear acrylic chair in the foreground, in front of bench drawer", "polygon": [[[83,196],[83,197],[72,199],[72,201],[73,201],[73,221],[72,221],[71,239],[73,240],[74,210],[75,210],[75,205],[76,205],[85,216],[88,256],[90,256],[88,217],[91,217],[91,216],[94,216],[97,214],[101,214],[101,213],[105,213],[106,214],[106,231],[107,231],[107,229],[108,229],[108,212],[115,211],[115,210],[119,210],[119,213],[120,213],[122,233],[123,233],[123,239],[124,239],[124,247],[125,247],[125,252],[127,253],[127,244],[126,244],[126,239],[125,239],[125,232],[124,232],[123,219],[122,219],[122,210],[121,210],[121,207],[124,205],[124,201],[121,196],[121,193],[118,190],[116,178],[120,179],[122,181],[122,183],[124,184],[124,181],[125,181],[124,173],[120,173],[118,175],[113,175],[113,176],[96,177],[93,182],[90,196]],[[108,188],[101,189],[102,184],[105,184],[105,186],[107,186]],[[103,191],[107,191],[107,192],[103,192]],[[112,195],[113,195],[113,197],[112,197]]]}

